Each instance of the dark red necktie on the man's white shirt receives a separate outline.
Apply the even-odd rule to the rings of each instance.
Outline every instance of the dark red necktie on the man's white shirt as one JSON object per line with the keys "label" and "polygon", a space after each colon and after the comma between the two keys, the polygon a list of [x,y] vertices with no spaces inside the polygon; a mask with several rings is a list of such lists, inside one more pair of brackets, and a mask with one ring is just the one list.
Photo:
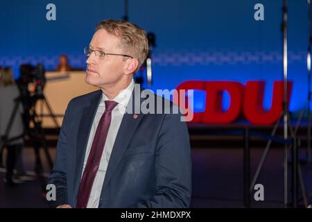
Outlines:
{"label": "dark red necktie on the man's white shirt", "polygon": [[94,178],[96,177],[98,167],[100,166],[107,133],[110,128],[112,110],[117,104],[118,103],[115,101],[105,101],[105,112],[98,123],[98,127],[96,128],[96,134],[94,135],[85,171],[83,171],[83,178],[81,178],[80,181],[76,205],[78,208],[87,207]]}

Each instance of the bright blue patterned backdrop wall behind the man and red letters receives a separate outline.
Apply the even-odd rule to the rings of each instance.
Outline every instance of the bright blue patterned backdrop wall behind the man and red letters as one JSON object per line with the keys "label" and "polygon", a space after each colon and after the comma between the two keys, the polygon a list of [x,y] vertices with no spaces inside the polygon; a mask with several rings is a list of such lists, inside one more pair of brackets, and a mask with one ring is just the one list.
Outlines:
{"label": "bright blue patterned backdrop wall behind the man and red letters", "polygon": [[[56,21],[46,20],[48,3],[56,6]],[[256,3],[264,6],[264,21],[254,20]],[[288,5],[290,109],[297,112],[307,95],[308,17],[306,0]],[[121,0],[4,0],[0,6],[0,65],[11,66],[15,76],[25,62],[54,69],[62,53],[84,68],[83,46],[96,23],[123,17]],[[270,108],[272,82],[282,78],[281,6],[281,0],[129,0],[130,22],[156,35],[151,88],[173,89],[189,79],[266,80],[264,105]],[[196,95],[196,110],[202,110],[205,94]]]}

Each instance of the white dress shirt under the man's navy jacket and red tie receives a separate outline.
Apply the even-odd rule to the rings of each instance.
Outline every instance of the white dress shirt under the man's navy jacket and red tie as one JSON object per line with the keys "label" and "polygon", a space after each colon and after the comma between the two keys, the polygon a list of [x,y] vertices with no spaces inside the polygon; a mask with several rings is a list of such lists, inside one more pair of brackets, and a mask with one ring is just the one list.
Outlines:
{"label": "white dress shirt under the man's navy jacket and red tie", "polygon": [[[102,190],[103,182],[105,178],[105,173],[107,170],[107,165],[110,160],[110,155],[112,153],[112,148],[114,146],[116,135],[118,133],[121,120],[123,119],[123,114],[125,114],[125,110],[128,105],[128,101],[130,100],[134,86],[135,86],[135,81],[132,79],[130,85],[128,85],[126,89],[123,89],[118,94],[118,96],[112,99],[113,101],[117,102],[118,105],[116,105],[116,107],[112,110],[112,121],[110,122],[110,129],[108,130],[108,133],[107,133],[104,150],[103,150],[103,154],[101,157],[101,163],[100,163],[100,166],[98,167],[98,172],[96,173],[96,177],[94,178],[94,183],[92,186],[91,194],[89,196],[89,202],[87,204],[87,208],[98,207],[98,203],[99,203],[100,196],[101,196],[101,190]],[[105,111],[106,100],[108,100],[107,96],[103,93],[101,102],[98,105],[98,110],[96,111],[96,115],[92,123],[92,128],[91,128],[88,143],[87,143],[87,151],[85,153],[85,161],[83,162],[83,172],[85,171],[85,166],[87,164],[87,160],[88,160],[89,153],[91,150],[94,135],[96,133],[96,128],[98,127],[98,122],[100,121]]]}

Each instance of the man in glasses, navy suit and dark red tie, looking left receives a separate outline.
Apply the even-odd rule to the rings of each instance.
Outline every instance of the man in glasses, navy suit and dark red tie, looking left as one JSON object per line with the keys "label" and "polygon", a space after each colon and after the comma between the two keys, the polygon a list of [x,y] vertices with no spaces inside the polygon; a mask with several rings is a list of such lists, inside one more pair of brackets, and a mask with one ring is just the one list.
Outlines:
{"label": "man in glasses, navy suit and dark red tie, looking left", "polygon": [[189,207],[191,151],[182,115],[133,110],[145,101],[135,98],[133,80],[148,54],[145,31],[130,22],[100,22],[85,54],[85,81],[101,90],[69,102],[49,177],[56,200],[49,205]]}

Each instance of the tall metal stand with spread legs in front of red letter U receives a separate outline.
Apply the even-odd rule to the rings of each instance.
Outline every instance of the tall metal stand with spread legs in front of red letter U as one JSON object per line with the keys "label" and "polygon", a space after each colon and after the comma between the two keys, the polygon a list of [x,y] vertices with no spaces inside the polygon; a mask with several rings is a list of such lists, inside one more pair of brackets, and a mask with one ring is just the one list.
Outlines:
{"label": "tall metal stand with spread legs in front of red letter U", "polygon": [[[302,197],[304,200],[305,207],[308,207],[308,201],[306,198],[306,191],[304,187],[304,181],[302,178],[302,171],[300,168],[300,165],[297,165],[297,128],[295,131],[291,127],[291,116],[289,114],[288,110],[288,87],[287,87],[287,19],[288,19],[288,12],[287,12],[287,0],[284,0],[283,3],[283,22],[281,24],[281,31],[283,33],[283,78],[284,78],[284,101],[283,101],[283,111],[281,112],[279,119],[277,123],[275,123],[275,126],[272,130],[271,137],[275,136],[275,133],[277,131],[277,128],[279,126],[279,122],[281,119],[283,119],[284,123],[284,141],[286,142],[288,140],[288,130],[291,133],[291,138],[293,139],[293,144],[288,148],[288,144],[284,144],[284,207],[288,207],[288,153],[289,149],[293,149],[293,207],[297,207],[297,173],[299,174],[300,179],[300,187],[302,189]],[[272,139],[268,140],[268,143],[266,144],[266,148],[263,151],[263,155],[261,156],[261,160],[259,162],[259,165],[257,167],[257,171],[254,175],[254,178],[252,180],[252,184],[250,186],[250,193],[252,192],[254,185],[257,182],[257,179],[259,178],[259,173],[261,171],[261,168],[263,167],[264,160],[266,159],[266,155],[268,153],[268,149],[270,148],[270,145],[272,144]]]}

